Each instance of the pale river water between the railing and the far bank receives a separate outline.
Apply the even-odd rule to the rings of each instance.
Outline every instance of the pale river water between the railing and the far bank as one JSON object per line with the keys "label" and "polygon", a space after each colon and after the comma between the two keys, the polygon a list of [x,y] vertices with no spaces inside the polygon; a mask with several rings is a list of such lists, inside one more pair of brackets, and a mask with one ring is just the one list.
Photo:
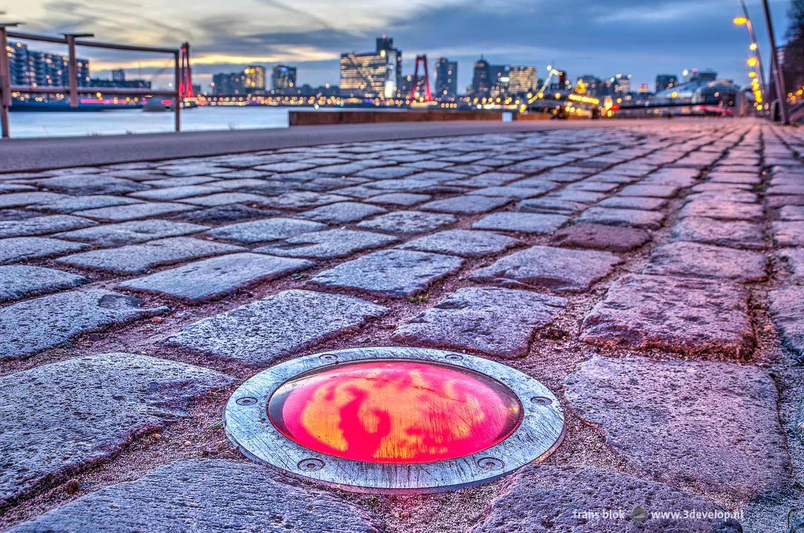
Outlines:
{"label": "pale river water between the railing and the far bank", "polygon": [[[162,133],[173,131],[173,121],[173,113],[147,113],[142,109],[99,112],[25,111],[10,113],[10,132],[12,138]],[[286,127],[288,108],[251,105],[182,110],[183,131]]]}

